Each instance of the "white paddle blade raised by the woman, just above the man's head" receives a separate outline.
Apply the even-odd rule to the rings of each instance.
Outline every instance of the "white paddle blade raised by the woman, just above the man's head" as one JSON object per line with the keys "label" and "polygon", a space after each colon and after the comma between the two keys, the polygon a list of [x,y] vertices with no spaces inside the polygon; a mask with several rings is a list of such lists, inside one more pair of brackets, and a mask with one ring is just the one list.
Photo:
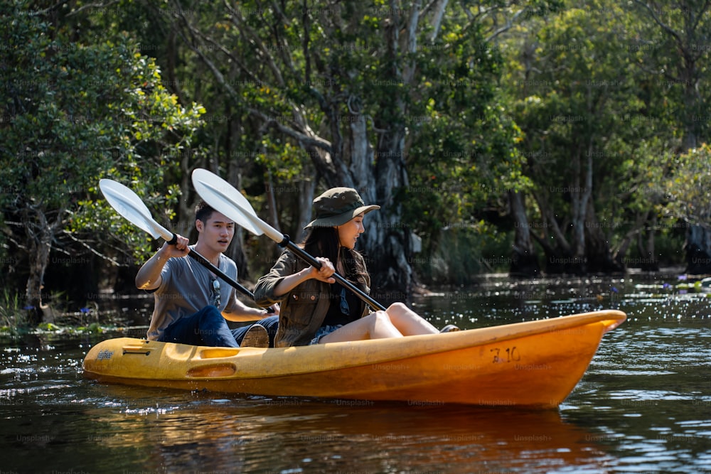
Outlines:
{"label": "white paddle blade raised by the woman, just above the man's head", "polygon": [[[205,203],[214,210],[222,212],[254,235],[264,234],[264,226],[260,225],[263,222],[257,217],[250,202],[223,178],[208,170],[197,168],[193,171],[193,186]],[[282,235],[279,234],[279,240],[281,239]]]}

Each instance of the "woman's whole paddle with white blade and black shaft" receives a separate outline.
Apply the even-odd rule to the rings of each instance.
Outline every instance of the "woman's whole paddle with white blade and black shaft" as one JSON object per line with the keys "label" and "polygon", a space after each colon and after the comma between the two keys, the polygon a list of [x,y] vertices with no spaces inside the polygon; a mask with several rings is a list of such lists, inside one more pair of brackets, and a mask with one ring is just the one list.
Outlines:
{"label": "woman's whole paddle with white blade and black shaft", "polygon": [[[213,209],[222,212],[225,216],[234,220],[240,227],[244,227],[254,235],[266,234],[269,239],[277,242],[279,247],[287,247],[287,249],[294,252],[294,254],[304,260],[304,262],[317,269],[321,268],[321,262],[294,244],[288,235],[282,234],[267,224],[267,222],[257,217],[257,213],[247,198],[233,188],[230,183],[220,178],[220,176],[205,169],[198,168],[193,171],[193,186],[195,186],[200,197],[205,200],[205,203],[208,203]],[[365,293],[353,285],[350,281],[343,278],[343,276],[334,273],[333,278],[347,289],[353,291],[358,298],[368,303],[372,308],[385,310],[385,306],[375,301],[368,293]]]}

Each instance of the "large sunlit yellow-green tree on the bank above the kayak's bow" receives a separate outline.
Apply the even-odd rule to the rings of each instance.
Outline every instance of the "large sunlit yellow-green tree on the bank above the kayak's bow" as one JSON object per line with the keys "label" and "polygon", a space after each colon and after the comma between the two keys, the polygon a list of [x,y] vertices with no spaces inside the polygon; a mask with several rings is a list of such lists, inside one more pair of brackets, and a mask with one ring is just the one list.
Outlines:
{"label": "large sunlit yellow-green tree on the bank above the kayak's bow", "polygon": [[520,153],[534,183],[525,229],[551,273],[624,269],[629,243],[663,200],[644,183],[665,173],[673,135],[648,75],[634,67],[641,50],[631,24],[611,2],[573,1],[556,21],[530,24],[513,62]]}

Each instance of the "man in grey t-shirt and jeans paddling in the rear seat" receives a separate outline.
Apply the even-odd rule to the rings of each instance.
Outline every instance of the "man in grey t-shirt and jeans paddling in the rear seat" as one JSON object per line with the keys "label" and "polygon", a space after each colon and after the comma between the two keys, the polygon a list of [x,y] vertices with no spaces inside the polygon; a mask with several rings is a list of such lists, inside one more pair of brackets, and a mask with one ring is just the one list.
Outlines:
{"label": "man in grey t-shirt and jeans paddling in the rear seat", "polygon": [[[195,208],[198,241],[192,247],[221,271],[237,279],[237,265],[224,255],[235,235],[235,222],[201,201]],[[155,307],[149,340],[213,347],[268,347],[276,333],[279,310],[268,316],[237,299],[237,292],[212,271],[188,257],[188,239],[178,235],[174,245],[161,247],[136,275],[139,289],[153,291]],[[227,321],[257,321],[230,330]],[[272,336],[273,340],[273,336]]]}

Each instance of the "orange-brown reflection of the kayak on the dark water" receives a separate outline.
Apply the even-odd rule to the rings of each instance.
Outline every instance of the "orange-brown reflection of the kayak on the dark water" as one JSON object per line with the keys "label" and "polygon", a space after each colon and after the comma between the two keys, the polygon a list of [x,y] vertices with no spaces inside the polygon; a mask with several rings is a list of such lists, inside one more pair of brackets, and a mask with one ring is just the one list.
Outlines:
{"label": "orange-brown reflection of the kayak on the dark water", "polygon": [[592,432],[557,411],[205,397],[187,406],[145,407],[149,413],[127,406],[87,416],[100,426],[120,426],[110,436],[95,435],[105,448],[144,446],[142,457],[154,469],[335,472],[358,465],[373,473],[395,466],[471,473],[602,468],[609,458]]}

